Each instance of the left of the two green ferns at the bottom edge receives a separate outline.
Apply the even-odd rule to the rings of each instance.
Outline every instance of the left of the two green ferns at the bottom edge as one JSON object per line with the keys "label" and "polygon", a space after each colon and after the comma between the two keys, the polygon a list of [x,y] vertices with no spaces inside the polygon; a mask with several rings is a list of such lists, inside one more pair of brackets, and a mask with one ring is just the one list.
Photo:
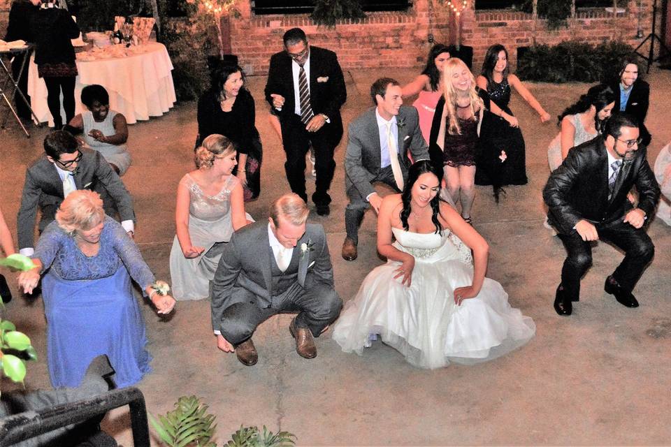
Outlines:
{"label": "left of the two green ferns at the bottom edge", "polygon": [[196,396],[182,396],[175,403],[175,409],[156,420],[149,416],[154,430],[161,441],[169,447],[203,446],[215,447],[212,439],[217,425],[215,416],[205,414],[208,406]]}

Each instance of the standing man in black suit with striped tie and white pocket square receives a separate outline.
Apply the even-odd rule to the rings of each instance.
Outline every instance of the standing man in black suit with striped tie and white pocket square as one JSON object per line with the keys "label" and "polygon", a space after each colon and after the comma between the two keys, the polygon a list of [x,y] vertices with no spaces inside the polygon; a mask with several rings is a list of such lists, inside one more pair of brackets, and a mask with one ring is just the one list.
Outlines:
{"label": "standing man in black suit with striped tie and white pocket square", "polygon": [[335,53],[309,45],[302,29],[289,29],[283,40],[284,51],[270,58],[266,100],[280,117],[289,186],[306,203],[305,154],[310,145],[315,149],[317,179],[312,201],[317,214],[325,216],[330,212],[333,152],[342,137],[345,79]]}

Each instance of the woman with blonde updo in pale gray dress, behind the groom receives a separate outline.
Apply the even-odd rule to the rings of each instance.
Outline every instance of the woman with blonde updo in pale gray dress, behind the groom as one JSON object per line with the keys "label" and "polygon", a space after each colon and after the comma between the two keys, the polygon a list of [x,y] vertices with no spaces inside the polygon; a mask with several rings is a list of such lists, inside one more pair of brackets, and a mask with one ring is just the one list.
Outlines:
{"label": "woman with blonde updo in pale gray dress, behind the groom", "polygon": [[224,243],[247,224],[243,188],[231,174],[237,164],[231,140],[208,136],[195,159],[197,169],[182,177],[177,191],[177,235],[170,252],[176,300],[208,297]]}

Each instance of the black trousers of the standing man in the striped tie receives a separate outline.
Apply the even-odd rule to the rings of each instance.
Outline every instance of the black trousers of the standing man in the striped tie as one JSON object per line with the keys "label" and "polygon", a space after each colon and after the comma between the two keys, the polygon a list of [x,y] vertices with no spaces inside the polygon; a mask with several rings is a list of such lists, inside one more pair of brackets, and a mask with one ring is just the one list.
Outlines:
{"label": "black trousers of the standing man in the striped tie", "polygon": [[284,163],[284,171],[291,191],[301,196],[308,202],[308,194],[305,193],[305,154],[308,153],[310,145],[315,149],[315,193],[312,194],[312,202],[315,205],[329,205],[331,196],[331,180],[335,173],[335,160],[333,152],[335,146],[340,142],[340,132],[334,132],[326,123],[317,132],[305,130],[305,124],[301,122],[298,115],[291,114],[290,117],[282,119],[282,142],[284,152],[287,154],[287,162]]}

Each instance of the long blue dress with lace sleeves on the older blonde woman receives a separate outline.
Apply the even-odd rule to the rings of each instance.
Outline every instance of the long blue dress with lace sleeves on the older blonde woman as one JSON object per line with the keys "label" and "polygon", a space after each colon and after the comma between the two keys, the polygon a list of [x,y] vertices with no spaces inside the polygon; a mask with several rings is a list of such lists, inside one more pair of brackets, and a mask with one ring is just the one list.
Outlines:
{"label": "long blue dress with lace sleeves on the older blonde woman", "polygon": [[150,372],[145,323],[131,277],[145,288],[154,275],[120,223],[105,217],[98,254],[86,256],[53,221],[33,257],[46,270],[42,296],[52,386],[79,386],[89,362],[101,354],[110,358],[120,388]]}

